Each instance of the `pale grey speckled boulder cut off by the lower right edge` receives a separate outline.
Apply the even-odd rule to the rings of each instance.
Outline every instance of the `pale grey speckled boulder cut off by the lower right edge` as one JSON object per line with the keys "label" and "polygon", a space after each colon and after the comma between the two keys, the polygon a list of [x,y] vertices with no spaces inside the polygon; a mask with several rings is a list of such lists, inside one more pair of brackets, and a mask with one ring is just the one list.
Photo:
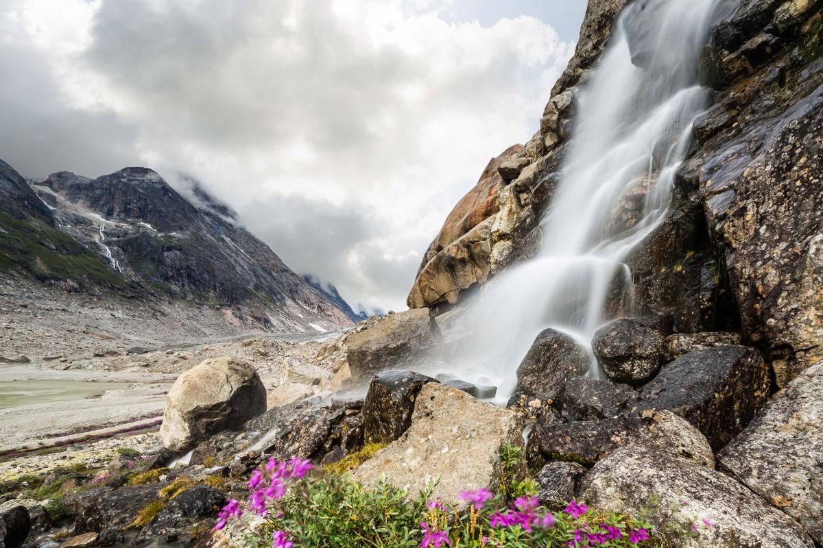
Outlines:
{"label": "pale grey speckled boulder cut off by the lower right edge", "polygon": [[718,453],[738,481],[796,519],[823,543],[823,364],[775,394]]}

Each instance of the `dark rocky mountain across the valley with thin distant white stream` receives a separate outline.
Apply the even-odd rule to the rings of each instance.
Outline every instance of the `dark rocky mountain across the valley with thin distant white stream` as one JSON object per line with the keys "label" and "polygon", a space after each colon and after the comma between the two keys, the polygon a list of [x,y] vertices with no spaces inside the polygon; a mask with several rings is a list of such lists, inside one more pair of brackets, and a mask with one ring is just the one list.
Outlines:
{"label": "dark rocky mountain across the valley with thin distant white stream", "polygon": [[[281,332],[350,325],[351,308],[295,274],[234,211],[186,178],[191,200],[148,168],[26,182],[0,162],[0,274],[76,292],[224,310]],[[345,304],[345,303],[344,303]]]}

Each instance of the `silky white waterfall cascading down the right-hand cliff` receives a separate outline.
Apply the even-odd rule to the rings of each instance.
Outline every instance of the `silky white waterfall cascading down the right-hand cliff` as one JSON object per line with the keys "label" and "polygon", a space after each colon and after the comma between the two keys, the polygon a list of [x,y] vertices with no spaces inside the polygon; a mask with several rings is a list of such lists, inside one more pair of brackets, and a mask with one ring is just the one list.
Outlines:
{"label": "silky white waterfall cascading down the right-hand cliff", "polygon": [[[668,212],[692,122],[706,101],[697,85],[700,50],[714,16],[730,3],[637,0],[625,8],[579,96],[570,150],[542,221],[542,251],[488,283],[464,312],[473,335],[449,357],[449,371],[498,386],[504,401],[542,329],[590,348],[610,294],[629,294],[626,257]],[[642,211],[626,223],[616,211],[638,193]],[[594,359],[589,375],[601,375]]]}

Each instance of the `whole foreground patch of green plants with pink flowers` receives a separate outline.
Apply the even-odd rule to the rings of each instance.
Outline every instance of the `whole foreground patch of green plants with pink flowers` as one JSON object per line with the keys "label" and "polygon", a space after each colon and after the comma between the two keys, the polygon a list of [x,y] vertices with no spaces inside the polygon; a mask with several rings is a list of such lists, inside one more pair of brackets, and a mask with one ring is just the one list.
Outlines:
{"label": "whole foreground patch of green plants with pink flowers", "polygon": [[366,489],[313,469],[308,460],[269,459],[249,478],[248,498],[221,509],[215,529],[230,525],[232,544],[252,548],[621,548],[670,546],[711,525],[683,521],[681,508],[662,512],[653,499],[637,518],[591,513],[578,500],[552,513],[532,494],[507,500],[486,489],[467,490],[454,506],[431,500],[430,489],[410,500],[386,483]]}

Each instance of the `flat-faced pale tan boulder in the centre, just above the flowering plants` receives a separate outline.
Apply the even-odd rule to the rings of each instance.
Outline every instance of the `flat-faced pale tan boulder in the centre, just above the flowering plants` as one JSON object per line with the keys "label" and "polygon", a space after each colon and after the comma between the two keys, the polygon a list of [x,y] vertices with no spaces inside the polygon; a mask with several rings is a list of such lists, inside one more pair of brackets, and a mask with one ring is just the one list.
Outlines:
{"label": "flat-faced pale tan boulder in the centre, just above the flowering plants", "polygon": [[438,480],[433,496],[462,504],[458,495],[465,490],[497,487],[500,448],[522,447],[522,431],[516,413],[428,383],[417,396],[412,426],[361,464],[354,478],[375,486],[385,477],[412,496]]}

